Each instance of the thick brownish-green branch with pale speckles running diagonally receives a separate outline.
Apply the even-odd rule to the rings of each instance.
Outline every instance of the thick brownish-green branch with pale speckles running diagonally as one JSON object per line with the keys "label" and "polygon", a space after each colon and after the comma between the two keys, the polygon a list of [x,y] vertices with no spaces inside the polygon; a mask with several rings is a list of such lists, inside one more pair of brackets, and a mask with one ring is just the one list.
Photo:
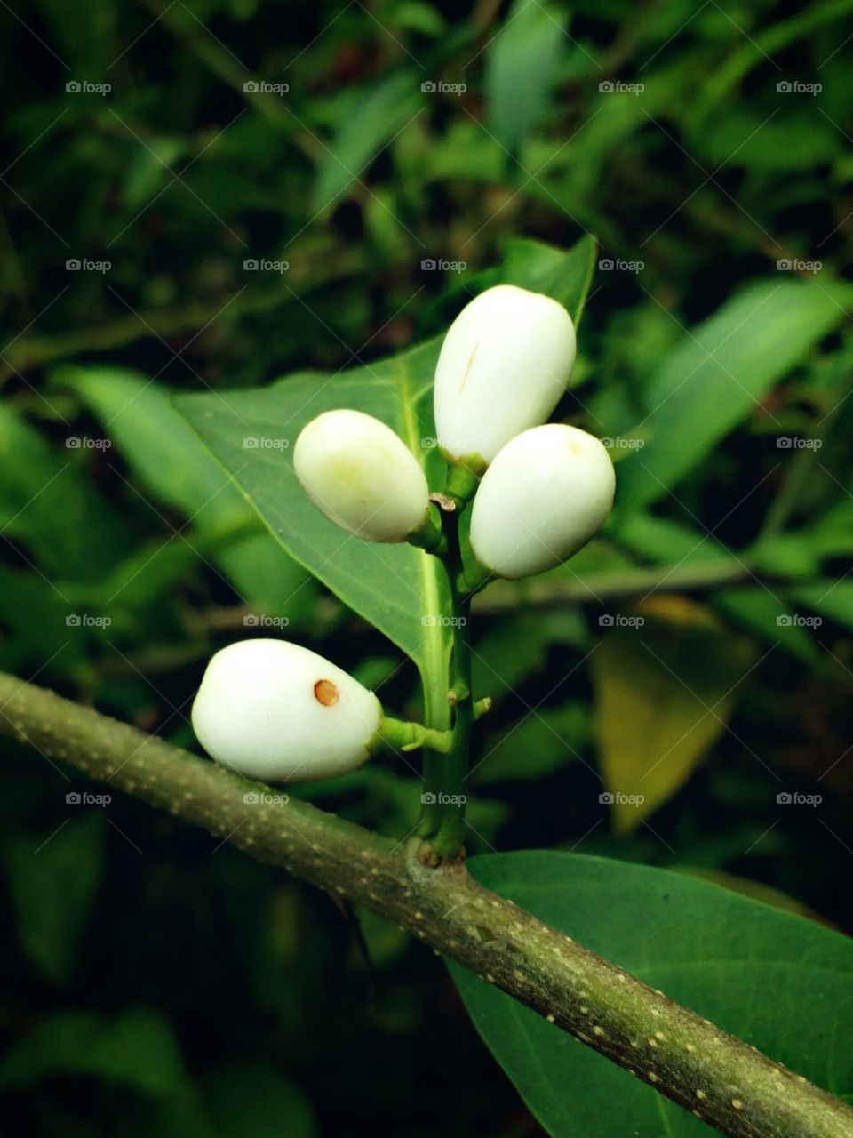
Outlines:
{"label": "thick brownish-green branch with pale speckles running diagonally", "polygon": [[[732,1138],[851,1138],[853,1110],[479,885],[0,673],[0,733],[408,930]],[[247,800],[246,795],[255,795]],[[581,1012],[583,1007],[583,1012]]]}

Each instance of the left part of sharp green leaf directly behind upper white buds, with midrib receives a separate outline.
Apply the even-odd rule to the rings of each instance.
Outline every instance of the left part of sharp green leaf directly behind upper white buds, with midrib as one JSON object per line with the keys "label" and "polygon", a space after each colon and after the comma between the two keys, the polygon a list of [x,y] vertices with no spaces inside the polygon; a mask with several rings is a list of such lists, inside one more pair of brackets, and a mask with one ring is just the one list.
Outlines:
{"label": "left part of sharp green leaf directly behind upper white buds, with midrib", "polygon": [[[359,541],[328,521],[296,478],[292,444],[321,412],[354,407],[394,428],[429,475],[436,455],[431,397],[438,347],[431,341],[334,379],[301,373],[270,388],[177,401],[284,549],[407,652],[424,676],[446,675],[449,635],[432,619],[449,611],[440,563],[411,545]],[[247,447],[247,438],[281,440],[281,448]],[[432,488],[438,488],[434,477]]]}

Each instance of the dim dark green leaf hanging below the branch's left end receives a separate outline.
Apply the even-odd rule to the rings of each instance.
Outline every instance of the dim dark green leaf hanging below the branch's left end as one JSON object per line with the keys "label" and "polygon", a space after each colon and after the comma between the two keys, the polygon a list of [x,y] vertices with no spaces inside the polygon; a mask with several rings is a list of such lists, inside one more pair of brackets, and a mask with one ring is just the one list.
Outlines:
{"label": "dim dark green leaf hanging below the branch's left end", "polygon": [[52,835],[20,839],[10,851],[22,947],[55,983],[69,980],[89,925],[103,876],[103,817],[93,810],[66,822]]}

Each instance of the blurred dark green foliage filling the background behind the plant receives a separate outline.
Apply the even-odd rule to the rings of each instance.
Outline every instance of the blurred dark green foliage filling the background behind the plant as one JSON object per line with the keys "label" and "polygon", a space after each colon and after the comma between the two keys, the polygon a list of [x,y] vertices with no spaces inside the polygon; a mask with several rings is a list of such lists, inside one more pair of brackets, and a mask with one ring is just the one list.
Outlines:
{"label": "blurred dark green foliage filling the background behind the plant", "polygon": [[[194,745],[206,658],[263,619],[416,712],[412,663],[172,396],[382,373],[497,280],[568,303],[593,234],[558,414],[613,442],[618,509],[570,567],[483,597],[470,846],[689,868],[848,931],[852,14],[10,0],[0,666]],[[638,701],[666,723],[629,752],[597,716]],[[540,1132],[420,946],[359,915],[368,966],[326,898],[3,749],[16,1130]],[[641,820],[599,801],[637,792],[620,753],[661,776]],[[300,793],[401,839],[417,787],[399,762]]]}

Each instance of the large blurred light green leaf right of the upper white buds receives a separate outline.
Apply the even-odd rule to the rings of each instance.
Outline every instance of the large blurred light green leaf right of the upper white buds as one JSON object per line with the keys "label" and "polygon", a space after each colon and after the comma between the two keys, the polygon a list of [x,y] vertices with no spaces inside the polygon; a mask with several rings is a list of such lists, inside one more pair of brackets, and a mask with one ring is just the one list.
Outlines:
{"label": "large blurred light green leaf right of the upper white buds", "polygon": [[846,292],[815,281],[760,281],[688,332],[646,391],[620,464],[622,511],[655,502],[694,470],[844,316]]}

